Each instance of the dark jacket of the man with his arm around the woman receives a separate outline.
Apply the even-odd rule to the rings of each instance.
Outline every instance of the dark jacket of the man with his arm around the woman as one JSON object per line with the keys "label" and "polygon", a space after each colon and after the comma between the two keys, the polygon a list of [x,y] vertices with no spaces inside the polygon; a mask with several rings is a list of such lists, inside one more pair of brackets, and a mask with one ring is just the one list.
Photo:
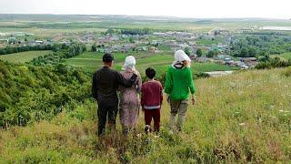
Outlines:
{"label": "dark jacket of the man with his arm around the woman", "polygon": [[107,99],[117,99],[116,90],[119,85],[131,87],[136,77],[126,80],[118,71],[103,67],[93,76],[92,95],[99,102]]}

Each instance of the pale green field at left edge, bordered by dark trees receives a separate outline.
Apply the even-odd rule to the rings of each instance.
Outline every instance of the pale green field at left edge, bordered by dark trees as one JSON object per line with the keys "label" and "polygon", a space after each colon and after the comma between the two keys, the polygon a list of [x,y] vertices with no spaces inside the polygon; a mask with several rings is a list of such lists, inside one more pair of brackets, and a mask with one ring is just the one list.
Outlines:
{"label": "pale green field at left edge, bordered by dark trees", "polygon": [[15,54],[8,54],[0,56],[0,60],[8,61],[11,63],[25,63],[29,62],[37,56],[45,56],[51,51],[27,51]]}

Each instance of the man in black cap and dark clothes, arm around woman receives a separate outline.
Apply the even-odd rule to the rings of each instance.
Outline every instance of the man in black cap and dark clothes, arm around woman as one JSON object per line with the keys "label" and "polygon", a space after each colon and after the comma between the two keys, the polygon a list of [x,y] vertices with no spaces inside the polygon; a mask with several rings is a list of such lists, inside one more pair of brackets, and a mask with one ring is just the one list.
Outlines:
{"label": "man in black cap and dark clothes, arm around woman", "polygon": [[108,125],[112,130],[115,128],[116,114],[118,112],[118,98],[116,90],[119,85],[132,87],[135,84],[136,75],[133,74],[128,80],[118,71],[112,69],[114,56],[105,54],[103,64],[99,70],[95,71],[92,81],[92,95],[97,101],[98,110],[98,136],[105,133],[105,123],[108,117]]}

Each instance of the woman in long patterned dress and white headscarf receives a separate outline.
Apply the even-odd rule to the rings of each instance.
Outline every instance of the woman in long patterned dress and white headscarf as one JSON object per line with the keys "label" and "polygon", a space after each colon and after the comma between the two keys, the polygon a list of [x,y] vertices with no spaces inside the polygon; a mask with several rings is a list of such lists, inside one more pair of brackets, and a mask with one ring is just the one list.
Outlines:
{"label": "woman in long patterned dress and white headscarf", "polygon": [[129,79],[134,74],[137,75],[135,84],[133,87],[119,87],[120,102],[119,102],[119,118],[123,128],[123,133],[128,134],[129,131],[135,130],[138,114],[139,114],[139,98],[138,94],[142,87],[142,78],[139,72],[135,69],[135,57],[126,56],[125,64],[121,75],[125,79]]}

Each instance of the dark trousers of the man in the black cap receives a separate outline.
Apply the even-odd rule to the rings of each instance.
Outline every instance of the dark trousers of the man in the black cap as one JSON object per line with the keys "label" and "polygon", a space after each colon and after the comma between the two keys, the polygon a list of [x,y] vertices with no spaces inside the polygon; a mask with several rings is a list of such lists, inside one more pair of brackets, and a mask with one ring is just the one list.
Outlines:
{"label": "dark trousers of the man in the black cap", "polygon": [[98,101],[98,136],[105,133],[106,119],[108,117],[109,129],[115,129],[116,115],[118,112],[118,99],[108,98],[103,101]]}

